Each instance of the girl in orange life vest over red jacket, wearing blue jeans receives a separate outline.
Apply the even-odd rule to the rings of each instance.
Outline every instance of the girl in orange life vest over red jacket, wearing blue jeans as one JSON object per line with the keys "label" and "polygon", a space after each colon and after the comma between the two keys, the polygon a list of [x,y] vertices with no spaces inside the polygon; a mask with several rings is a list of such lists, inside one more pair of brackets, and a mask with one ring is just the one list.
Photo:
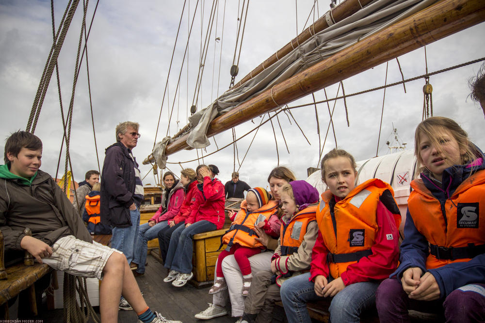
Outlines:
{"label": "girl in orange life vest over red jacket, wearing blue jeans", "polygon": [[354,157],[334,149],[322,159],[323,192],[318,206],[320,230],[310,272],[283,283],[281,299],[288,322],[310,322],[308,301],[333,297],[332,322],[359,322],[374,307],[380,280],[398,264],[401,221],[393,190],[378,179],[355,186]]}

